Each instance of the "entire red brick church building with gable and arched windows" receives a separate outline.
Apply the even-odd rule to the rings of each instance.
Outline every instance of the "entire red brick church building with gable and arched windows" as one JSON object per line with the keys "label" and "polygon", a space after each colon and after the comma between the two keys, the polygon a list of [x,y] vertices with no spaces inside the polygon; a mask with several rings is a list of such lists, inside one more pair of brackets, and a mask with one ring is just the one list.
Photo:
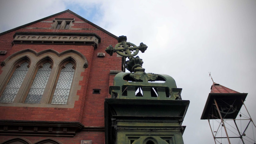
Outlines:
{"label": "entire red brick church building with gable and arched windows", "polygon": [[0,144],[104,144],[118,37],[66,10],[0,38]]}

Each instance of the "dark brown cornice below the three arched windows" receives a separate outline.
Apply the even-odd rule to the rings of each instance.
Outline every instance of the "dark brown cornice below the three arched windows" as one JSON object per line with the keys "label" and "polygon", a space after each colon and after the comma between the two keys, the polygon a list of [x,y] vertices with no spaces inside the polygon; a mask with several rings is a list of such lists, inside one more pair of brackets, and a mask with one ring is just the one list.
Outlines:
{"label": "dark brown cornice below the three arched windows", "polygon": [[74,137],[83,128],[79,122],[0,121],[0,135]]}

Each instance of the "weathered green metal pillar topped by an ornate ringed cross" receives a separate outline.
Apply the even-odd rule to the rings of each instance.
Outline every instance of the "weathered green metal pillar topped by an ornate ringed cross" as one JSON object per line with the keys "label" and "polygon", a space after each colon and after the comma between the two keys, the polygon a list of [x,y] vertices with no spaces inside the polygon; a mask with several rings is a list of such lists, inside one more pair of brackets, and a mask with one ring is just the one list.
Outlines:
{"label": "weathered green metal pillar topped by an ornate ringed cross", "polygon": [[[118,44],[106,52],[128,57],[126,68],[110,86],[111,98],[105,99],[106,144],[183,144],[181,126],[189,101],[181,100],[181,88],[168,75],[145,73],[138,51],[147,46],[136,46],[120,36]],[[150,83],[154,82],[154,83]]]}

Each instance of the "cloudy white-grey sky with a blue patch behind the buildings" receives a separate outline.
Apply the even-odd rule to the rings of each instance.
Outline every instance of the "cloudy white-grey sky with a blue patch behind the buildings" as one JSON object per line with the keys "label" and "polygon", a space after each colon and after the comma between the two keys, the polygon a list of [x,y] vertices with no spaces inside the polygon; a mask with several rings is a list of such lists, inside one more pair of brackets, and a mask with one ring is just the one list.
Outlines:
{"label": "cloudy white-grey sky with a blue patch behind the buildings", "polygon": [[256,121],[255,0],[1,0],[0,33],[67,9],[148,46],[139,53],[146,72],[172,76],[190,100],[184,143],[214,144],[208,121],[200,120],[211,91],[208,72],[214,82],[248,93],[245,105]]}

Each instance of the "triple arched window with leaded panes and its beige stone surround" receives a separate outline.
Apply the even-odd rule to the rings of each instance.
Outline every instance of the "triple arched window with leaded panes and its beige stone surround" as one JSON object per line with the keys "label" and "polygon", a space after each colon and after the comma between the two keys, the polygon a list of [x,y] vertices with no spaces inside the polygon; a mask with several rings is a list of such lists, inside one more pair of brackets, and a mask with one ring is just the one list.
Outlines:
{"label": "triple arched window with leaded panes and its beige stone surround", "polygon": [[[48,49],[37,53],[34,50],[25,49],[8,56],[4,61],[6,65],[2,67],[0,74],[0,81],[2,81],[0,83],[0,106],[72,108],[75,101],[79,99],[77,95],[77,91],[81,88],[79,81],[83,80],[81,72],[85,70],[83,64],[87,63],[86,58],[80,52],[65,50],[59,53]],[[12,92],[16,93],[16,96],[11,99],[7,98],[5,88],[16,68],[24,62],[27,62],[26,76],[20,88]],[[62,78],[59,79],[61,75]],[[65,77],[70,79],[65,79]],[[56,86],[58,88],[55,91]]]}

